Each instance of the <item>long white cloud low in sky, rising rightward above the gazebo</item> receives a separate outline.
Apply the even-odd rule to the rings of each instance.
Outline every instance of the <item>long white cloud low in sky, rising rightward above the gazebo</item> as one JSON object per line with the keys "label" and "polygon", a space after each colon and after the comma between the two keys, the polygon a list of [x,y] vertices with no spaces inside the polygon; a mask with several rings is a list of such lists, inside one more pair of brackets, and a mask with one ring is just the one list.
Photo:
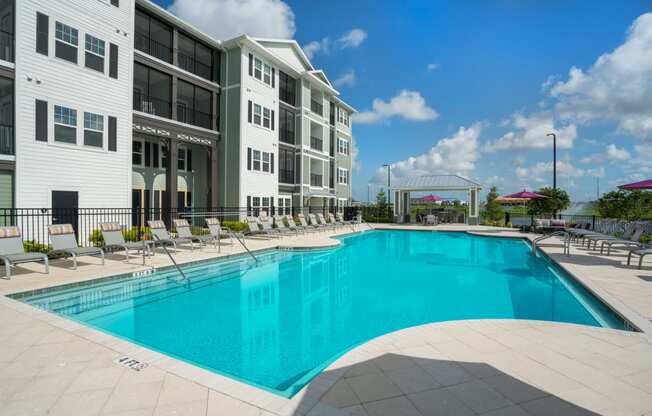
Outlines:
{"label": "long white cloud low in sky, rising rightward above the gazebo", "polygon": [[[481,130],[480,123],[468,128],[460,127],[452,137],[439,140],[427,153],[392,163],[392,177],[401,179],[434,174],[469,174],[475,169],[479,157],[478,138]],[[386,175],[386,168],[379,168],[372,181],[383,183]]]}

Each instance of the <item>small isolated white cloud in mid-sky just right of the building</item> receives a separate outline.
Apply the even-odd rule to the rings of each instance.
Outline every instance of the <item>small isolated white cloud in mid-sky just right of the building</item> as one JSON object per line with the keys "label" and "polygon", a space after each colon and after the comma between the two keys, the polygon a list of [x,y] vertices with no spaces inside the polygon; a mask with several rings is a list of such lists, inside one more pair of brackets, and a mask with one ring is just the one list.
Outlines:
{"label": "small isolated white cloud in mid-sky just right of the building", "polygon": [[419,92],[402,90],[389,101],[374,99],[372,110],[354,115],[355,122],[362,124],[377,123],[393,117],[411,121],[430,121],[439,117],[439,114],[426,104],[426,100]]}

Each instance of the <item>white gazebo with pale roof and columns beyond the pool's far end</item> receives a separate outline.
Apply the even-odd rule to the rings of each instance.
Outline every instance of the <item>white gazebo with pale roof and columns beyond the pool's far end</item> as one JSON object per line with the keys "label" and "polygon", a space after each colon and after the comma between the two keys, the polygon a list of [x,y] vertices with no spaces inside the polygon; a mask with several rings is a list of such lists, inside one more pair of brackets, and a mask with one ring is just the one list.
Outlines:
{"label": "white gazebo with pale roof and columns beyond the pool's far end", "polygon": [[480,211],[479,183],[458,175],[427,175],[413,176],[397,180],[390,190],[394,193],[394,215],[400,222],[405,221],[405,215],[410,213],[411,192],[466,192],[469,202],[467,223],[477,225]]}

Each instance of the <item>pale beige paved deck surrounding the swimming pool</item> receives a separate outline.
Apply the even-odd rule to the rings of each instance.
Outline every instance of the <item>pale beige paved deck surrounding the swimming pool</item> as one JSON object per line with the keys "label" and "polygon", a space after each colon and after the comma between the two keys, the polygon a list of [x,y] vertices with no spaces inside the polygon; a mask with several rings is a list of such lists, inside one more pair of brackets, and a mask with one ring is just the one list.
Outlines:
{"label": "pale beige paved deck surrounding the swimming pool", "polygon": [[[376,225],[532,235],[492,227]],[[368,229],[366,225],[357,231]],[[346,234],[351,229],[341,229]],[[323,232],[252,240],[252,250],[337,244]],[[236,242],[237,244],[237,242]],[[542,250],[643,332],[521,320],[476,320],[408,328],[344,354],[292,399],[220,376],[0,297],[0,415],[648,415],[652,416],[652,258],[627,267],[558,240]],[[242,254],[222,247],[220,256]],[[180,263],[214,258],[179,250]],[[42,289],[170,264],[157,254],[130,264],[121,254],[19,267],[0,294]],[[128,355],[149,366],[116,364]]]}

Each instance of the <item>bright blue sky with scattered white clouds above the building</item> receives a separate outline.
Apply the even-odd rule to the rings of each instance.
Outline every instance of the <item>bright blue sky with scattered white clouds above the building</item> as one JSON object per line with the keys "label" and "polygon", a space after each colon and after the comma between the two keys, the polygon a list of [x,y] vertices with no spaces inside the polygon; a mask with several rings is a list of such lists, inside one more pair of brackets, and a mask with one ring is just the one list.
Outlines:
{"label": "bright blue sky with scattered white clouds above the building", "polygon": [[218,39],[294,38],[352,105],[353,196],[458,174],[573,201],[652,177],[652,0],[155,0]]}

